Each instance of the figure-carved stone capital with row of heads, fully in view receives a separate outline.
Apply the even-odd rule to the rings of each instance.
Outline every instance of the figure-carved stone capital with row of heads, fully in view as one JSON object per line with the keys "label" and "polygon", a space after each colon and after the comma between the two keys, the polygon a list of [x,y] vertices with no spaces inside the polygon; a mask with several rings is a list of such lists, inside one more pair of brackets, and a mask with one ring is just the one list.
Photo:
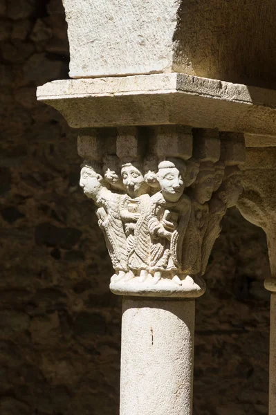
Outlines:
{"label": "figure-carved stone capital with row of heads, fully in view", "polygon": [[221,219],[241,194],[240,134],[127,127],[79,138],[80,186],[97,206],[121,295],[199,297]]}

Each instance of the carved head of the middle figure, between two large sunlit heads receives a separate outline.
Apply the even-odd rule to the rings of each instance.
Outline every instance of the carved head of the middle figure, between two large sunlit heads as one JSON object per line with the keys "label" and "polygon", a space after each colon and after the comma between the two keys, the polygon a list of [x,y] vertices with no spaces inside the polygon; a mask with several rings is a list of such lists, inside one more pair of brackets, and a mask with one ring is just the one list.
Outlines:
{"label": "carved head of the middle figure, between two large sunlit heads", "polygon": [[122,164],[122,183],[132,198],[147,193],[149,187],[142,174],[142,167],[138,162]]}

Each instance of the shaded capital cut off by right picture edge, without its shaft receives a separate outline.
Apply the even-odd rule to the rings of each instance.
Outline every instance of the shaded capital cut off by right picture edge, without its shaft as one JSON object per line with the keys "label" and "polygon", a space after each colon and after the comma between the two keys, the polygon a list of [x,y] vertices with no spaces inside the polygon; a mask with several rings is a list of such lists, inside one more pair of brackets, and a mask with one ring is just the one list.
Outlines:
{"label": "shaded capital cut off by right picture edge, without its shaft", "polygon": [[251,223],[266,232],[272,279],[265,287],[276,291],[276,149],[249,147],[243,166],[243,194],[238,208]]}

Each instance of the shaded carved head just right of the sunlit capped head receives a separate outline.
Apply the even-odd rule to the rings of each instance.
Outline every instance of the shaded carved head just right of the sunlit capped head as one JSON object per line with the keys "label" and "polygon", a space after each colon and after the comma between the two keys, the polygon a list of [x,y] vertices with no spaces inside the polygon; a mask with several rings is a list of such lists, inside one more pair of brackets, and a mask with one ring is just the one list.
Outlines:
{"label": "shaded carved head just right of the sunlit capped head", "polygon": [[199,167],[199,174],[192,184],[192,195],[201,203],[210,201],[214,188],[214,164],[212,161],[203,161]]}

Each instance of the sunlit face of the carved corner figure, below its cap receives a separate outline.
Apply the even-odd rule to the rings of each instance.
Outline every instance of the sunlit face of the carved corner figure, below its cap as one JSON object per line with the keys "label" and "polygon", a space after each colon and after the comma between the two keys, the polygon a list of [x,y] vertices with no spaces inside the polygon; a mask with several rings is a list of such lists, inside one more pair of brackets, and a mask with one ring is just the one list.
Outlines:
{"label": "sunlit face of the carved corner figure, below its cap", "polygon": [[176,167],[161,168],[157,177],[164,198],[167,201],[178,201],[185,188],[181,172]]}

